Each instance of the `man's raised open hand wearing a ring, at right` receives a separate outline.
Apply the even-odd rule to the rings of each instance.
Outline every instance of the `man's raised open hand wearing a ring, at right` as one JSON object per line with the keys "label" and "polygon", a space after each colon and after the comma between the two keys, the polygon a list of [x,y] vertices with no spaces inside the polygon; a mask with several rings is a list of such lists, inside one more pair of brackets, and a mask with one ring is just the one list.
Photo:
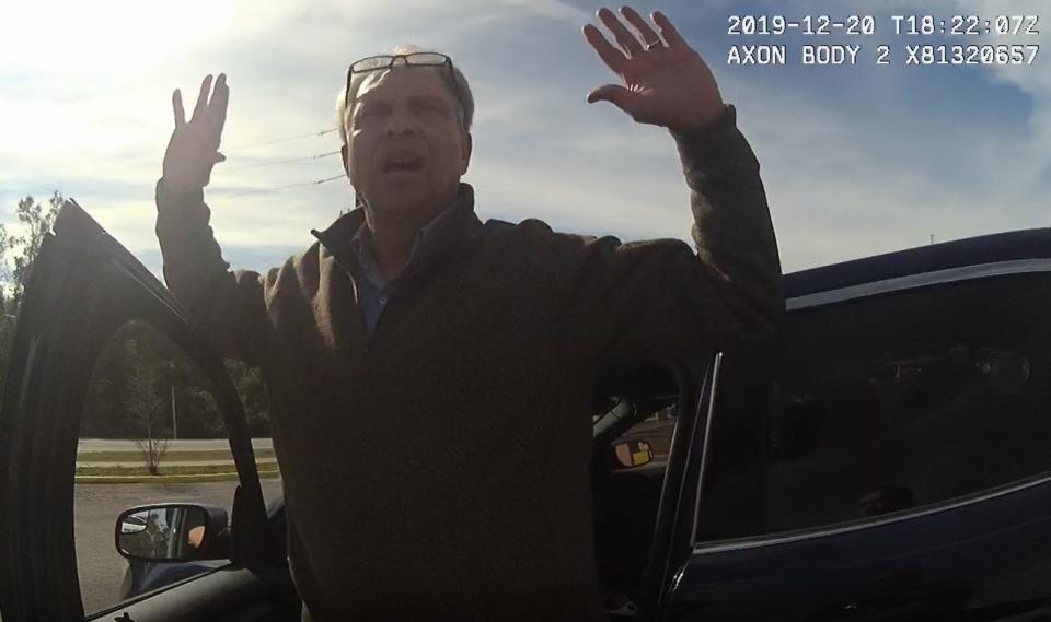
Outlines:
{"label": "man's raised open hand wearing a ring, at right", "polygon": [[679,35],[661,12],[651,17],[660,34],[631,7],[621,14],[635,27],[632,32],[609,9],[598,12],[599,20],[613,33],[617,46],[610,44],[592,24],[584,36],[624,85],[605,84],[588,94],[588,103],[607,101],[640,124],[652,124],[689,131],[704,127],[723,112],[723,96],[712,71]]}

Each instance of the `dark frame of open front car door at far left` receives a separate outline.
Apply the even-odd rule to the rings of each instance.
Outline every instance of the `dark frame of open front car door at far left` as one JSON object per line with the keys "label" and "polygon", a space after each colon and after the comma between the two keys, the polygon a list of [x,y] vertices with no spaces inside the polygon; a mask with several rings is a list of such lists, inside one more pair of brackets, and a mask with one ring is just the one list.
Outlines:
{"label": "dark frame of open front car door at far left", "polygon": [[[119,327],[138,320],[185,352],[213,388],[240,483],[229,565],[94,618],[279,620],[289,597],[282,533],[264,508],[247,422],[222,362],[172,294],[79,206],[46,236],[16,321],[0,406],[0,611],[4,622],[83,620],[73,480],[92,368]],[[114,517],[115,519],[116,517]]]}

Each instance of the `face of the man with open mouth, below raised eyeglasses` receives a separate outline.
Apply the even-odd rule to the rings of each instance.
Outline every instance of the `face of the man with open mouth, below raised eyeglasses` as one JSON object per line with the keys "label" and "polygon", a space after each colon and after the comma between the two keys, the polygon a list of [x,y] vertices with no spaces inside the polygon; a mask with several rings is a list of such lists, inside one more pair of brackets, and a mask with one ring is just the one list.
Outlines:
{"label": "face of the man with open mouth, below raised eyeglasses", "polygon": [[438,71],[448,69],[376,71],[358,91],[344,164],[357,192],[382,215],[434,215],[467,169],[471,138]]}

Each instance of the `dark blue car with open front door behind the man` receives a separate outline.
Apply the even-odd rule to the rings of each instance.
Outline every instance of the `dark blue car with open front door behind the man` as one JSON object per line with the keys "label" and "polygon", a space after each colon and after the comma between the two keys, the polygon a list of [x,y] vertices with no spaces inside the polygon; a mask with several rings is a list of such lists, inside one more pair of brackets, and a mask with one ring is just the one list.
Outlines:
{"label": "dark blue car with open front door behind the man", "polygon": [[[600,377],[610,618],[1051,619],[1051,230],[807,270],[785,289],[776,339]],[[77,406],[96,344],[128,319],[208,371],[241,489],[228,532],[209,515],[187,548],[171,529],[178,555],[140,566],[134,596],[95,618],[298,620],[282,507],[264,507],[236,394],[172,295],[69,206],[25,305],[50,313],[20,318],[0,410],[4,622],[82,619],[78,422],[56,404]]]}

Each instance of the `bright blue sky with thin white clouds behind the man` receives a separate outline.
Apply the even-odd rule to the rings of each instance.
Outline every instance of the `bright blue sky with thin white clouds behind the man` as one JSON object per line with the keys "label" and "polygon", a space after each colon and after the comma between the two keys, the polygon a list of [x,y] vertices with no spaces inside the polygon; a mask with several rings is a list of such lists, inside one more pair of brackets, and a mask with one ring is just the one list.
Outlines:
{"label": "bright blue sky with thin white clouds behind the man", "polygon": [[[37,0],[0,21],[0,222],[20,197],[77,199],[160,273],[153,185],[171,93],[226,72],[230,108],[206,200],[223,256],[265,270],[350,206],[334,106],[349,62],[402,44],[450,55],[476,102],[464,180],[480,218],[539,218],[623,240],[689,240],[689,192],[668,132],[589,91],[619,78],[580,34],[582,0]],[[615,8],[615,5],[613,5]],[[990,233],[1046,226],[1051,48],[1021,64],[906,64],[906,46],[1039,46],[1040,0],[671,0],[665,12],[707,61],[761,163],[786,272]],[[730,33],[775,15],[781,35]],[[871,34],[805,34],[821,15],[871,15]],[[893,15],[935,32],[897,34]],[[979,33],[942,34],[954,15]],[[1041,34],[995,34],[996,17]],[[991,33],[984,32],[990,21]],[[909,28],[908,20],[899,21]],[[966,24],[966,22],[965,22]],[[730,63],[784,46],[777,66]],[[806,66],[804,46],[861,46],[854,64]],[[887,64],[878,64],[886,47]],[[946,48],[951,56],[951,47]],[[1029,48],[1031,49],[1031,48]],[[1029,55],[1026,49],[1026,56]],[[967,54],[967,50],[965,50]],[[980,51],[979,51],[980,54]],[[1048,58],[1041,56],[1047,54]],[[187,104],[189,106],[189,104]]]}

